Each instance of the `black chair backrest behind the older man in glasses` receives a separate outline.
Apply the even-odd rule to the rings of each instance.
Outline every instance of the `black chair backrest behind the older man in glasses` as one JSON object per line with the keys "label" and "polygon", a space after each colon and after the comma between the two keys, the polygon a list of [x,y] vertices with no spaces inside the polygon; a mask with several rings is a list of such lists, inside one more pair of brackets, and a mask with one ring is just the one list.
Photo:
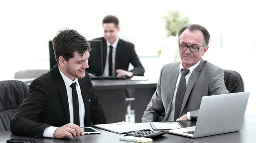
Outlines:
{"label": "black chair backrest behind the older man in glasses", "polygon": [[224,81],[230,93],[244,92],[244,81],[238,72],[224,70]]}

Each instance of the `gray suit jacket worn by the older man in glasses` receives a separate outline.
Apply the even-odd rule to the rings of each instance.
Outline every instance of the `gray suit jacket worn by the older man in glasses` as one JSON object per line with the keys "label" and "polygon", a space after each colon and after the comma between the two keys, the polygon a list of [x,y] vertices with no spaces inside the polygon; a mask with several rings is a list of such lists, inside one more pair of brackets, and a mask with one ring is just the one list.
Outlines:
{"label": "gray suit jacket worn by the older man in glasses", "polygon": [[[157,90],[151,98],[142,117],[142,122],[170,121],[172,98],[179,75],[180,62],[163,66],[157,83]],[[224,72],[208,61],[201,59],[193,70],[186,88],[180,117],[191,113],[196,120],[203,96],[228,93],[224,84]]]}

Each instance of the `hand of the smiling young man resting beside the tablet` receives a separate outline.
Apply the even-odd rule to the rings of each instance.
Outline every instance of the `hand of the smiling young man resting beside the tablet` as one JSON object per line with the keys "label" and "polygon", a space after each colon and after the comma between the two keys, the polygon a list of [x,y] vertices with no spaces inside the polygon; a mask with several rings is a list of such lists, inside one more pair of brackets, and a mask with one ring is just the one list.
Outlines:
{"label": "hand of the smiling young man resting beside the tablet", "polygon": [[74,123],[68,123],[60,128],[56,129],[53,133],[53,137],[55,138],[64,138],[64,137],[79,137],[80,135],[84,135],[84,132]]}

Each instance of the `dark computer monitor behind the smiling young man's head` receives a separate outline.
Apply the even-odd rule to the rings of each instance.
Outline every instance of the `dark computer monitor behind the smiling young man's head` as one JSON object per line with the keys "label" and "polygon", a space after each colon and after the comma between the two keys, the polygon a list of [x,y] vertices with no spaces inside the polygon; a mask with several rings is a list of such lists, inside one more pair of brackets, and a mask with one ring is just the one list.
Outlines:
{"label": "dark computer monitor behind the smiling young man's head", "polygon": [[[91,51],[90,58],[88,59],[89,68],[85,69],[87,73],[93,73],[96,76],[102,76],[103,74],[103,53],[102,53],[102,41],[101,40],[89,40]],[[49,41],[49,55],[50,55],[50,69],[57,64],[52,41]]]}

